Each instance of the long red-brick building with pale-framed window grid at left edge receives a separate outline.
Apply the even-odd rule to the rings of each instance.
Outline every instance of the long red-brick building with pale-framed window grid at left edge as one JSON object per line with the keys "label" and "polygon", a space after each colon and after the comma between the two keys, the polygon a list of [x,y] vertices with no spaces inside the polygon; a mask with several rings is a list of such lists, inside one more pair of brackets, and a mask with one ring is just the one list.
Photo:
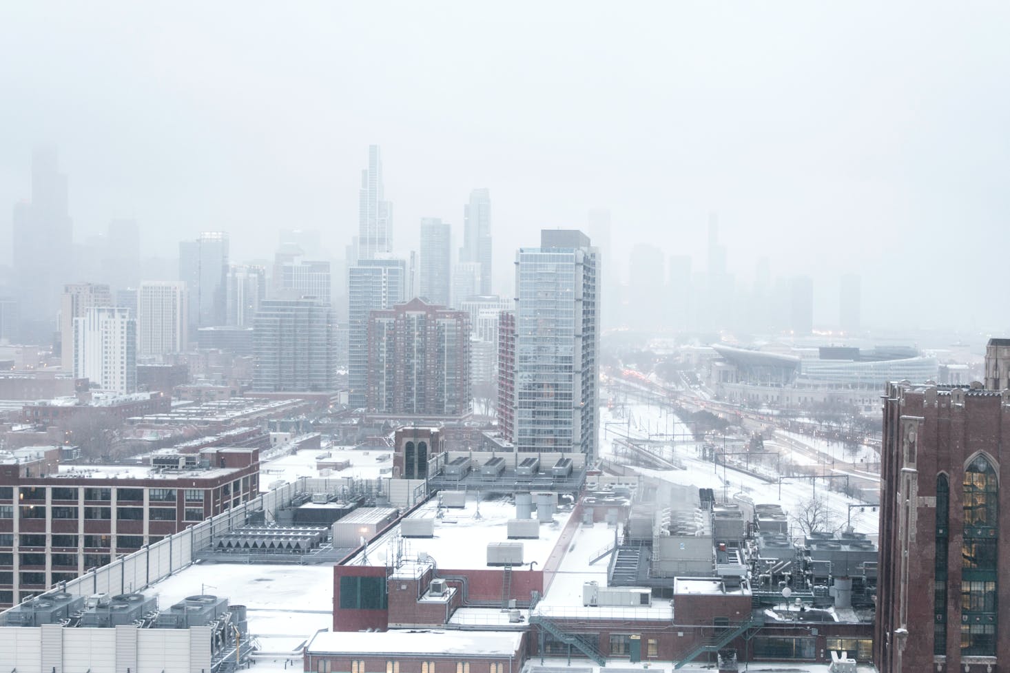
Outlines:
{"label": "long red-brick building with pale-framed window grid at left edge", "polygon": [[[0,605],[252,499],[258,449],[210,448],[152,465],[60,465],[59,447],[0,454]],[[127,587],[128,590],[128,587]]]}

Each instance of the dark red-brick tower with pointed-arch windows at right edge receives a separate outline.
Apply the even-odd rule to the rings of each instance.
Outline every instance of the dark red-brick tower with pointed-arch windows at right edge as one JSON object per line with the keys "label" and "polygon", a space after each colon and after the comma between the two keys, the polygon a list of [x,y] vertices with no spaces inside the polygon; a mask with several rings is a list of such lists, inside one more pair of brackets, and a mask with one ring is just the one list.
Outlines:
{"label": "dark red-brick tower with pointed-arch windows at right edge", "polygon": [[[990,341],[987,372],[1005,367],[1008,343]],[[987,380],[995,385],[887,387],[874,639],[881,673],[974,673],[1010,661],[1010,389]]]}

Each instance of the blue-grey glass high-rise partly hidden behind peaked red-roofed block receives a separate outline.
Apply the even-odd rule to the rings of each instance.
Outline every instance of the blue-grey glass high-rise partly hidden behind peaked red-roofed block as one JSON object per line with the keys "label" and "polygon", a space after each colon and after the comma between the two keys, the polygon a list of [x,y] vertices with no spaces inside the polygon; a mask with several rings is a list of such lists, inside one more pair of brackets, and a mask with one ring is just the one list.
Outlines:
{"label": "blue-grey glass high-rise partly hidden behind peaked red-roofed block", "polygon": [[359,260],[348,273],[347,384],[351,406],[368,401],[369,312],[404,299],[407,265],[403,260]]}

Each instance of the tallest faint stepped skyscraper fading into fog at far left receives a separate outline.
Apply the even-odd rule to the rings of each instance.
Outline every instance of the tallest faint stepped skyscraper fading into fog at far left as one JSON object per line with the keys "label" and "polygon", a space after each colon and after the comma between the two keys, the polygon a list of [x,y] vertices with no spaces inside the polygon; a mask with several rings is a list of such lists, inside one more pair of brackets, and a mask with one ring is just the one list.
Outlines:
{"label": "tallest faint stepped skyscraper fading into fog at far left", "polygon": [[26,325],[22,339],[53,333],[63,284],[74,273],[73,234],[67,176],[60,172],[55,151],[37,150],[31,163],[31,201],[15,205],[13,218],[14,278]]}

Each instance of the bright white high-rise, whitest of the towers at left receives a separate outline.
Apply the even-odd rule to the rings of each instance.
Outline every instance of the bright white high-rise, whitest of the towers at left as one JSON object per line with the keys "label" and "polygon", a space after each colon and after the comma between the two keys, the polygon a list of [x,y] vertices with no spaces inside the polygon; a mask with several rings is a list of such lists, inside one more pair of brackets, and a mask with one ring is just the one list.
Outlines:
{"label": "bright white high-rise, whitest of the towers at left", "polygon": [[74,318],[74,376],[94,388],[136,392],[136,320],[128,309],[92,307]]}

